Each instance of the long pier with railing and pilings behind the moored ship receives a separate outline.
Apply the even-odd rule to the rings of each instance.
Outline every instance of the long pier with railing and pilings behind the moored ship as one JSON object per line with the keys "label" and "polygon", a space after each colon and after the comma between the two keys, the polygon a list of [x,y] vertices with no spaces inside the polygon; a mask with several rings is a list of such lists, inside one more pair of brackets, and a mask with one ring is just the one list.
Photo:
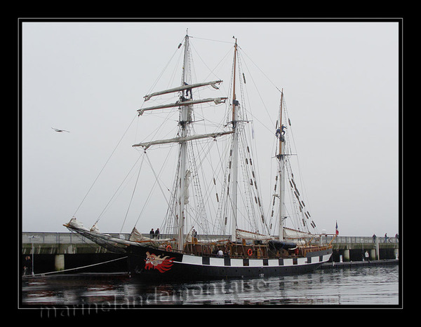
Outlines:
{"label": "long pier with railing and pilings behind the moored ship", "polygon": [[[110,234],[113,237],[128,239],[128,234]],[[149,237],[145,234],[144,236]],[[165,235],[162,235],[165,237]],[[200,235],[199,239],[200,239]],[[213,235],[223,239],[221,235]],[[332,237],[323,237],[323,243]],[[361,261],[368,251],[370,260],[395,259],[399,256],[399,240],[395,237],[337,237],[332,242],[333,254],[330,262]],[[378,250],[377,250],[378,249]],[[124,255],[107,251],[89,239],[72,232],[22,232],[22,262],[29,256],[34,257],[34,273],[68,270],[78,267],[81,272],[122,272],[128,267]],[[116,260],[123,258],[121,260]],[[96,265],[98,263],[109,263]],[[77,271],[76,271],[77,272]]]}

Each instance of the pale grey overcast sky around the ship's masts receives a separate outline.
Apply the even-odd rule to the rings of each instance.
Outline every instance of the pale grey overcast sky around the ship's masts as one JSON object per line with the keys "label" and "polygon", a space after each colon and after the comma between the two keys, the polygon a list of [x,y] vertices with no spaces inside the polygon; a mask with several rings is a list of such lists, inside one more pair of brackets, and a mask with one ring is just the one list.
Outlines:
{"label": "pale grey overcast sky around the ship's masts", "polygon": [[[98,180],[97,193],[77,210],[76,217],[91,227],[138,158],[132,144],[142,141],[145,120],[138,122],[143,117],[137,118],[136,110],[187,28],[195,49],[208,42],[203,39],[223,41],[214,42],[215,53],[194,57],[196,62],[222,57],[236,36],[258,67],[253,83],[262,85],[265,109],[256,117],[267,121],[267,126],[255,124],[260,162],[262,155],[269,160],[273,155],[263,153],[262,136],[279,110],[275,86],[283,88],[307,201],[319,228],[334,232],[338,221],[340,235],[398,232],[397,22],[24,22],[23,231],[67,231],[62,224],[72,218],[134,118],[107,167],[111,176]],[[178,85],[176,80],[168,86]],[[264,183],[273,187],[272,181]],[[100,230],[119,232],[131,192],[116,200]],[[123,232],[131,231],[135,218],[128,217]],[[137,227],[149,232],[159,224],[152,214]]]}

